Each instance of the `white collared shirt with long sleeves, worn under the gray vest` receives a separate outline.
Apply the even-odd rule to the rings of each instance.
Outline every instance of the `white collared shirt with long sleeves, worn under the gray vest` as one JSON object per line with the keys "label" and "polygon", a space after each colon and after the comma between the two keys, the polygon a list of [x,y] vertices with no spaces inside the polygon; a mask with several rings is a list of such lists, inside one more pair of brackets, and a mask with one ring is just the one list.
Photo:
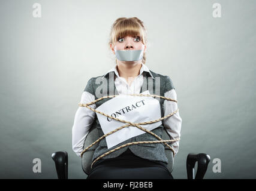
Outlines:
{"label": "white collared shirt with long sleeves, worn under the gray vest", "polygon": [[[125,78],[119,76],[118,70],[116,69],[117,65],[110,69],[109,72],[115,72],[115,86],[119,94],[140,94],[140,89],[143,84],[143,74],[144,72],[149,72],[150,76],[153,75],[149,71],[148,67],[142,63],[140,68],[140,74],[134,78],[131,85],[128,85],[128,82]],[[107,74],[106,73],[106,74]],[[106,75],[105,74],[105,75]],[[104,75],[104,76],[105,76]],[[104,78],[103,76],[103,78]],[[174,89],[167,91],[164,94],[164,97],[172,98],[177,100],[177,94]],[[95,97],[91,93],[84,91],[80,100],[80,103],[86,104],[94,101]],[[90,107],[96,109],[96,105],[92,104]],[[177,103],[174,101],[164,100],[162,105],[164,110],[164,116],[177,110]],[[74,125],[72,128],[72,147],[73,151],[80,156],[80,153],[83,151],[83,144],[85,143],[85,138],[89,133],[89,130],[94,122],[96,113],[86,107],[79,107],[77,109]],[[182,125],[182,119],[180,118],[179,112],[170,116],[169,118],[164,119],[163,121],[164,128],[167,130],[167,133],[170,135],[170,139],[180,138],[180,131]],[[168,143],[167,143],[168,144]],[[175,141],[173,144],[170,144],[176,154],[179,150],[179,141]]]}

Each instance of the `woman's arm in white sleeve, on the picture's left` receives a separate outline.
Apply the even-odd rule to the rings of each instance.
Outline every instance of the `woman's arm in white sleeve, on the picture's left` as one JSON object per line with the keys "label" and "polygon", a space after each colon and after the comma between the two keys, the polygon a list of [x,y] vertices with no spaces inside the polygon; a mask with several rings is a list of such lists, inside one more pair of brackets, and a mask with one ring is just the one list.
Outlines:
{"label": "woman's arm in white sleeve, on the picture's left", "polygon": [[[84,91],[81,97],[80,103],[87,104],[91,101],[94,101],[95,97],[91,93]],[[96,109],[95,103],[89,105]],[[80,153],[83,150],[83,144],[85,143],[85,138],[89,133],[91,125],[94,122],[96,113],[87,107],[79,107],[77,109],[75,118],[74,118],[74,125],[72,128],[72,148],[73,151],[80,156]]]}

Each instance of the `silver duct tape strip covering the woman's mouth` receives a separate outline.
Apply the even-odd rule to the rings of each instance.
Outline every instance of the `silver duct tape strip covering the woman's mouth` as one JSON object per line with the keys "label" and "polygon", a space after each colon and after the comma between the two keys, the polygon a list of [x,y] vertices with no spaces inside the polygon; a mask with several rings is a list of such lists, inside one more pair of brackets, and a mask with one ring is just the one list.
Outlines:
{"label": "silver duct tape strip covering the woman's mouth", "polygon": [[144,50],[115,50],[116,58],[121,61],[137,61],[143,57]]}

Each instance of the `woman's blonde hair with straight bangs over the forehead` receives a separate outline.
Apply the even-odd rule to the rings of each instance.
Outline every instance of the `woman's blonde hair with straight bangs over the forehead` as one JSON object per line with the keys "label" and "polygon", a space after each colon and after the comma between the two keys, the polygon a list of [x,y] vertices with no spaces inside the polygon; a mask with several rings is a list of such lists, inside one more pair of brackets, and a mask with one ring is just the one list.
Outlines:
{"label": "woman's blonde hair with straight bangs over the forehead", "polygon": [[[137,17],[126,18],[121,17],[112,24],[110,31],[109,47],[110,44],[115,45],[118,38],[124,36],[139,36],[144,45],[147,44],[147,31],[144,27],[143,21]],[[143,53],[142,63],[146,62],[146,55]],[[116,59],[116,63],[118,63]]]}

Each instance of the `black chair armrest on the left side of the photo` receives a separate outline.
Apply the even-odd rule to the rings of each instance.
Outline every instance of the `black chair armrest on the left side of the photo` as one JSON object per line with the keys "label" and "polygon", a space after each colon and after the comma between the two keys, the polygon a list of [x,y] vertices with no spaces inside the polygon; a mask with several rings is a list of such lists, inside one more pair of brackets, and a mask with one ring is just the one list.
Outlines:
{"label": "black chair armrest on the left side of the photo", "polygon": [[55,152],[52,154],[52,159],[55,162],[55,167],[59,179],[68,179],[68,153]]}

